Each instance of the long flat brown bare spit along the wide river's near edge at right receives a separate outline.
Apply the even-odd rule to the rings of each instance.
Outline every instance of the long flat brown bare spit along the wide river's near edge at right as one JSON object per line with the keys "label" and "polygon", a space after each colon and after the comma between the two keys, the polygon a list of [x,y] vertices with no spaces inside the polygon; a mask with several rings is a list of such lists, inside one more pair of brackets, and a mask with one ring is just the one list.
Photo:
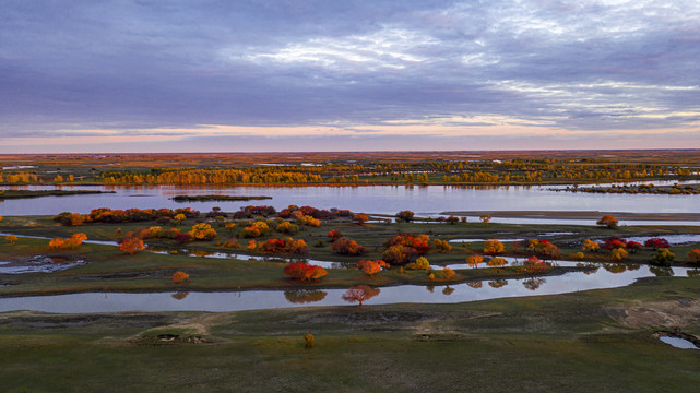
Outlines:
{"label": "long flat brown bare spit along the wide river's near edge at right", "polygon": [[455,216],[483,216],[491,217],[520,217],[520,218],[557,218],[557,219],[596,219],[604,215],[612,215],[617,219],[659,219],[659,221],[678,221],[678,219],[699,219],[700,213],[628,213],[628,212],[598,212],[598,211],[459,211],[442,212],[444,215]]}

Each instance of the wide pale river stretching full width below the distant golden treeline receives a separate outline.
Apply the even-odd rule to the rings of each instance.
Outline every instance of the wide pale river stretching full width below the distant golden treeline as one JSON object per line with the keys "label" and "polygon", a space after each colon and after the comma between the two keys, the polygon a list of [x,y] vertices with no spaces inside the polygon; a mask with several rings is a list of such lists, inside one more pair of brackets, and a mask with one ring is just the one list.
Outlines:
{"label": "wide pale river stretching full width below the distant golden treeline", "polygon": [[[660,183],[660,182],[656,182]],[[26,189],[54,189],[25,187]],[[697,213],[699,195],[597,194],[554,192],[549,187],[63,187],[63,190],[115,191],[106,194],[45,196],[0,201],[0,215],[90,213],[97,207],[150,209],[192,206],[207,212],[213,206],[237,211],[248,204],[269,204],[277,210],[290,204],[319,209],[348,209],[353,212],[394,214],[411,210],[419,216],[437,216],[446,211],[605,211],[630,213]],[[175,195],[268,195],[271,200],[251,202],[187,202]],[[494,218],[502,223],[591,224],[580,219]],[[637,225],[643,222],[633,222]],[[625,223],[621,223],[625,224]],[[672,225],[672,223],[666,223]],[[693,225],[697,222],[675,222]]]}

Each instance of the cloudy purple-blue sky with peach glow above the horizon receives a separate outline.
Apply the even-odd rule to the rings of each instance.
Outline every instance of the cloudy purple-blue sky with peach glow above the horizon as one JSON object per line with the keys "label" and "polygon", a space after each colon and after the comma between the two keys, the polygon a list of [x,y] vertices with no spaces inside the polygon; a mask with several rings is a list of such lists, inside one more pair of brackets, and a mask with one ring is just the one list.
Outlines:
{"label": "cloudy purple-blue sky with peach glow above the horizon", "polygon": [[0,153],[659,147],[697,0],[0,2]]}

